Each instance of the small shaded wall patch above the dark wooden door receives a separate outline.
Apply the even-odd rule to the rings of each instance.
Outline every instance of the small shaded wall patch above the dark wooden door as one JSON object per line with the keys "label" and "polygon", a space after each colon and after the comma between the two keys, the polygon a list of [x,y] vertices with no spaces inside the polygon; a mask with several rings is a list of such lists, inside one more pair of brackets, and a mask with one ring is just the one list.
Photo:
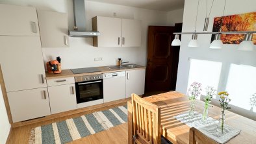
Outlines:
{"label": "small shaded wall patch above the dark wooden door", "polygon": [[179,10],[172,10],[167,13],[167,25],[174,26],[175,23],[183,22],[183,11],[184,8]]}

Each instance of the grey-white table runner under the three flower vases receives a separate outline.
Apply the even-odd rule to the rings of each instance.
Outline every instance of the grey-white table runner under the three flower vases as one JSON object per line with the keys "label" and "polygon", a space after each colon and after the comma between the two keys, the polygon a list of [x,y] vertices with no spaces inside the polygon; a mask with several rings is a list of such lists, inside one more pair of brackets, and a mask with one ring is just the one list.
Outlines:
{"label": "grey-white table runner under the three flower vases", "polygon": [[198,112],[194,112],[193,118],[189,117],[188,112],[175,116],[177,120],[181,121],[182,123],[185,123],[190,127],[197,128],[198,130],[203,132],[203,134],[213,139],[214,141],[217,141],[218,143],[226,143],[227,141],[234,138],[241,132],[241,130],[237,130],[235,128],[231,128],[231,126],[225,125],[224,134],[220,134],[219,132],[217,132],[219,125],[216,119],[213,119],[212,117],[208,117],[207,118],[208,123],[203,124],[201,123],[201,117],[202,117],[202,114]]}

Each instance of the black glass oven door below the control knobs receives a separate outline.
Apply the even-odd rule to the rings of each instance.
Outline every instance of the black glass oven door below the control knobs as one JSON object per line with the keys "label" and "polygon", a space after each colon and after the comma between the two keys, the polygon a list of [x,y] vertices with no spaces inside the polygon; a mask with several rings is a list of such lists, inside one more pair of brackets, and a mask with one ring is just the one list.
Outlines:
{"label": "black glass oven door below the control knobs", "polygon": [[103,99],[103,80],[76,82],[77,103]]}

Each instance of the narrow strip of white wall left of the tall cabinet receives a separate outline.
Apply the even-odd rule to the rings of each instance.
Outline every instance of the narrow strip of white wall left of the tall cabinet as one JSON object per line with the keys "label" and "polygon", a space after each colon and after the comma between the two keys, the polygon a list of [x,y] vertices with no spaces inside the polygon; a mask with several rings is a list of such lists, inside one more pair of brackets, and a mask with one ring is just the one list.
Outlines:
{"label": "narrow strip of white wall left of the tall cabinet", "polygon": [[5,102],[3,100],[3,94],[0,86],[0,143],[5,143],[10,132],[10,123],[6,113]]}

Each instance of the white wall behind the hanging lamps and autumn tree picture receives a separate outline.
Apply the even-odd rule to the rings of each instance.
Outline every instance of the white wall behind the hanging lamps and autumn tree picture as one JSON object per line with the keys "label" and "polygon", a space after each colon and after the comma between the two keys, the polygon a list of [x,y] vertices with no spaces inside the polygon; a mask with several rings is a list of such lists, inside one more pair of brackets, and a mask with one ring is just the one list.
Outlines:
{"label": "white wall behind the hanging lamps and autumn tree picture", "polygon": [[[216,16],[222,16],[223,0],[215,0],[214,5],[212,6],[212,13],[210,16],[209,22],[209,31],[212,30],[213,19]],[[199,4],[199,12],[198,12],[198,23],[196,26],[197,31],[203,31],[204,19],[205,19],[205,4],[206,1],[201,1]],[[185,9],[183,16],[183,32],[193,32],[194,24],[196,20],[196,10],[198,3],[195,3],[194,0],[185,0]],[[209,6],[211,5],[211,1],[209,1]],[[225,10],[225,16],[232,14],[243,14],[246,12],[255,12],[256,11],[256,1],[255,0],[232,0],[227,1],[227,6]],[[211,35],[210,34],[199,34],[198,42],[199,47],[187,47],[188,42],[191,40],[191,35],[183,34],[181,40],[181,51],[179,56],[179,69],[177,75],[177,91],[181,91],[182,93],[186,93],[188,87],[188,77],[190,71],[190,58],[197,60],[208,60],[212,62],[221,62],[222,69],[221,75],[218,83],[218,91],[227,90],[226,86],[228,83],[228,78],[230,77],[232,71],[230,69],[233,64],[235,65],[246,65],[247,67],[256,67],[256,51],[237,51],[237,45],[224,45],[222,49],[209,49],[211,43]],[[255,46],[256,50],[256,46]],[[245,70],[245,69],[244,69]],[[214,71],[214,69],[208,69],[208,71]],[[207,73],[205,73],[207,75]],[[244,77],[246,75],[241,72],[241,75],[237,75],[236,77]],[[211,75],[209,75],[211,77]],[[254,75],[251,75],[251,80],[253,80]],[[252,82],[248,80],[247,82],[241,83],[241,86],[245,85],[250,87]],[[238,88],[239,90],[239,88]],[[244,95],[240,95],[240,97],[232,97],[233,102],[237,101],[248,101],[248,95],[245,95],[246,90],[244,88],[240,88],[240,91],[244,91]],[[256,89],[255,89],[256,91]],[[233,93],[236,95],[237,93]],[[253,93],[251,93],[253,94]],[[232,101],[231,101],[232,102]],[[249,105],[249,104],[248,104]],[[245,106],[247,107],[247,106]],[[250,112],[247,108],[237,108],[233,106],[231,110],[237,112],[238,114],[246,115],[255,118],[255,113]]]}

